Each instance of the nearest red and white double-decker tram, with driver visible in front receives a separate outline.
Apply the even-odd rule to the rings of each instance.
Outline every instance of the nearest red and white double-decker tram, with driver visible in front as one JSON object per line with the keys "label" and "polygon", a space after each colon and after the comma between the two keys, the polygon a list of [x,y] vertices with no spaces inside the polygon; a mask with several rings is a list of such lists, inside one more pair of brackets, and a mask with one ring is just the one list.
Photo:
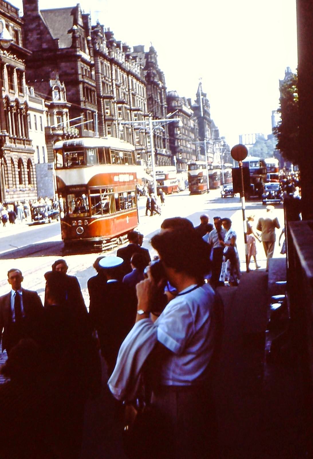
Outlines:
{"label": "nearest red and white double-decker tram, with driver visible in front", "polygon": [[66,245],[118,245],[138,224],[134,146],[114,137],[54,146],[61,235]]}

